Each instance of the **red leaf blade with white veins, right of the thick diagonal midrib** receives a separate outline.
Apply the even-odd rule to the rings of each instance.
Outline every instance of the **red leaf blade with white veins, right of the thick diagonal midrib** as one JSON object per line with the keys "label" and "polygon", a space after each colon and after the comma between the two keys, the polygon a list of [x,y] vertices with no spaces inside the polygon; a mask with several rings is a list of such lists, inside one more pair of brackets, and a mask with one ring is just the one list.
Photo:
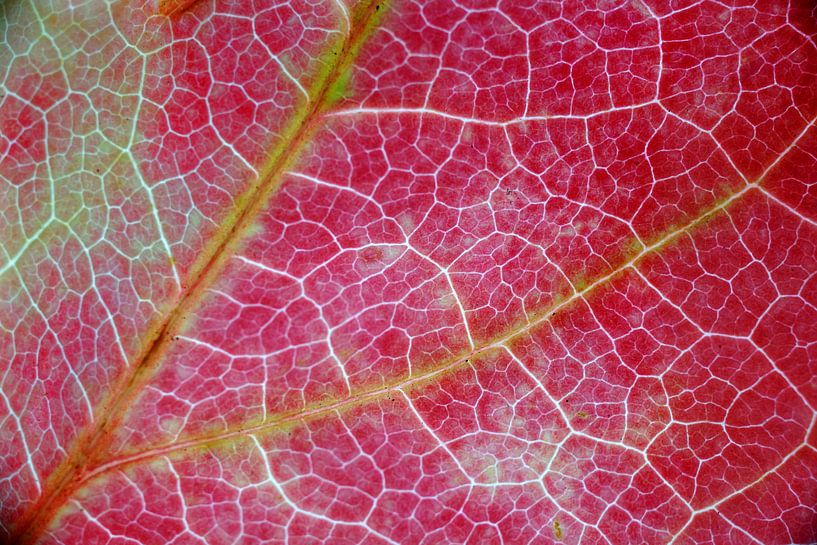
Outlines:
{"label": "red leaf blade with white veins, right of the thick diagonal midrib", "polygon": [[[324,87],[332,109],[317,108],[326,117],[303,154],[281,148],[286,168],[272,170],[291,172],[249,203],[262,219],[228,243],[238,257],[205,273],[201,285],[215,286],[201,289],[205,304],[173,311],[185,316],[167,339],[180,339],[140,379],[133,409],[112,426],[112,450],[87,463],[46,540],[108,530],[141,542],[232,539],[237,520],[270,507],[280,539],[296,528],[356,542],[665,542],[701,525],[763,535],[745,505],[719,518],[706,510],[767,497],[773,475],[794,475],[788,461],[814,448],[810,357],[800,350],[810,341],[797,326],[813,306],[815,237],[787,193],[801,190],[783,185],[802,183],[788,157],[808,157],[815,114],[805,12],[792,6],[793,22],[781,22],[774,9],[708,5],[570,6],[561,19],[516,9],[398,3],[372,28],[348,58],[353,71],[341,71],[345,83]],[[747,15],[755,26],[740,23]],[[206,47],[232,26],[213,27]],[[772,38],[759,39],[761,28]],[[520,41],[525,30],[530,41]],[[566,80],[563,64],[540,54],[557,42],[569,44],[554,53],[573,65]],[[713,61],[711,51],[735,45],[740,71]],[[184,96],[171,102],[187,109],[167,115],[190,134],[202,115],[192,67],[206,47],[173,47],[184,68],[170,96]],[[740,84],[735,108],[712,101],[712,81],[696,87],[690,55],[705,80],[714,71],[723,76],[715,83]],[[504,79],[492,79],[499,67]],[[763,87],[770,73],[777,79]],[[779,115],[752,110],[760,103]],[[236,138],[245,165],[266,172],[260,148],[227,117],[212,125]],[[111,174],[150,178],[171,163]],[[766,234],[780,242],[770,246]],[[794,250],[770,250],[779,245]],[[111,293],[99,299],[110,306]],[[605,314],[604,294],[631,322]],[[661,318],[686,333],[664,337]],[[657,322],[651,330],[634,326],[639,319]],[[773,353],[770,339],[792,327],[784,345],[796,355]],[[698,338],[719,336],[743,338],[742,348]],[[544,343],[545,356],[514,350],[531,342]],[[746,389],[741,374],[696,382],[752,358],[765,374],[747,391],[733,392]],[[732,405],[718,405],[724,399]],[[335,475],[340,467],[357,478]],[[587,467],[597,474],[583,476]],[[805,513],[813,468],[795,473],[790,504]],[[138,489],[150,487],[163,498],[156,509],[172,513],[155,529],[139,518]],[[139,527],[112,518],[106,494],[122,494]],[[230,506],[200,505],[211,494]],[[424,506],[413,520],[389,514],[412,506]],[[507,518],[492,518],[498,512]],[[809,539],[803,517],[787,519],[793,540]]]}

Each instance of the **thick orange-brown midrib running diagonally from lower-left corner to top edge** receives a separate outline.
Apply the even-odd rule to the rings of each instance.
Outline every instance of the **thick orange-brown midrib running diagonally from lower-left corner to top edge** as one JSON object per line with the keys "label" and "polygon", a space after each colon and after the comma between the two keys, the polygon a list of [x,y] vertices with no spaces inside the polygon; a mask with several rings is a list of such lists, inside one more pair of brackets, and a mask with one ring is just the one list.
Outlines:
{"label": "thick orange-brown midrib running diagonally from lower-left corner to top edge", "polygon": [[219,278],[230,257],[239,248],[244,234],[280,185],[283,175],[320,126],[323,112],[337,99],[333,93],[342,83],[360,46],[375,27],[386,1],[362,0],[355,6],[349,17],[350,28],[322,57],[333,62],[326,63],[326,68],[318,72],[309,93],[314,98],[295,112],[283,132],[281,143],[270,151],[270,158],[260,169],[255,182],[236,199],[232,213],[222,222],[222,227],[191,266],[188,282],[176,300],[170,302],[166,306],[167,311],[149,326],[143,349],[97,407],[93,426],[84,429],[73,440],[68,454],[46,479],[40,497],[16,521],[5,543],[28,545],[36,542],[62,505],[88,479],[93,468],[104,462],[101,458],[113,433],[119,428],[132,401],[158,368],[173,336],[198,306],[208,287]]}

